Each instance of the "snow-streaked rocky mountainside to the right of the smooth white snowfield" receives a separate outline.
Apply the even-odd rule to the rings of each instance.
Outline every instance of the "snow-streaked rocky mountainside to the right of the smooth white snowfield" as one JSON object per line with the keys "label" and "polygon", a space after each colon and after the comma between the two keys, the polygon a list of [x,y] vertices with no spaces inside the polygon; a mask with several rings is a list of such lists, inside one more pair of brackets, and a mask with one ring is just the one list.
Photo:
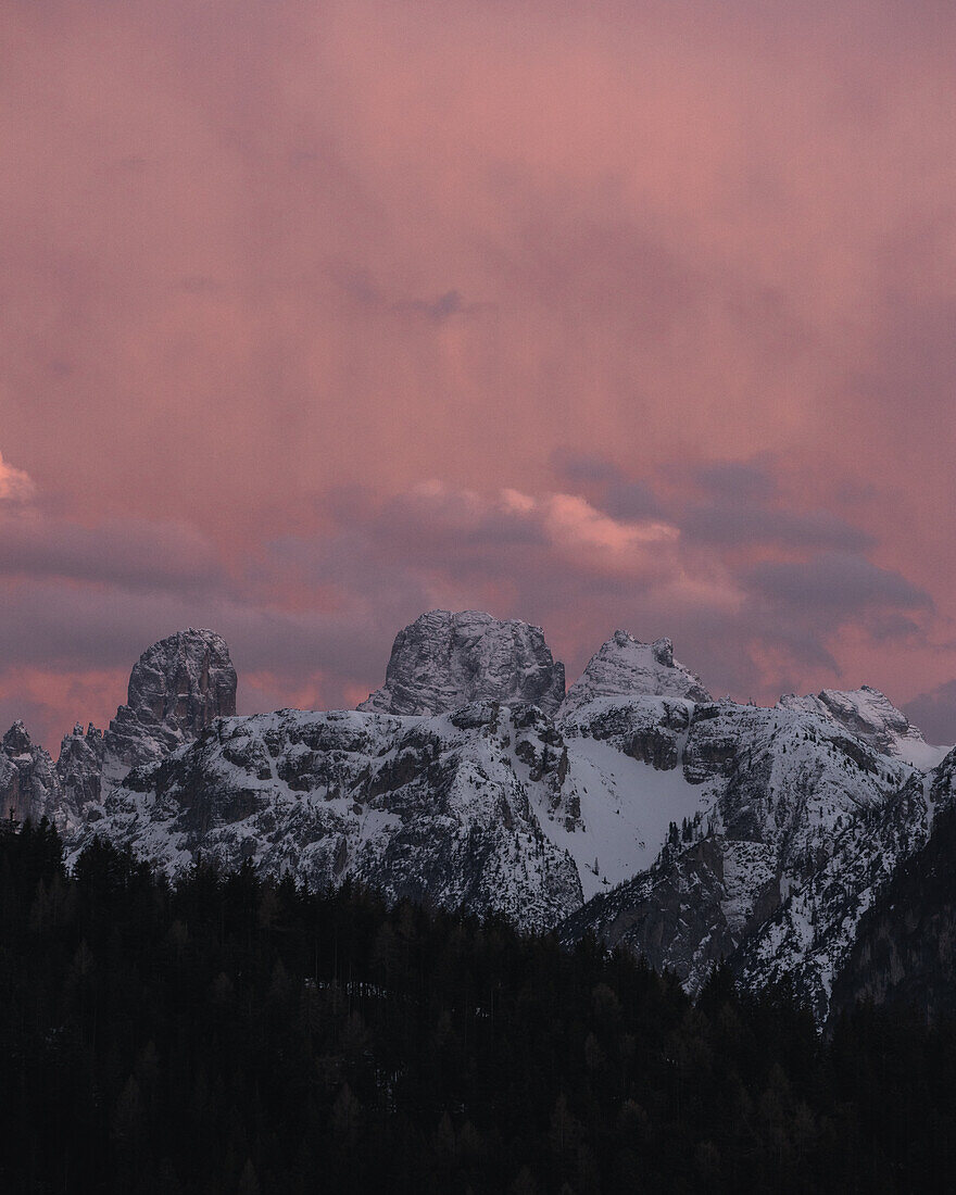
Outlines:
{"label": "snow-streaked rocky mountainside to the right of the smooth white snowfield", "polygon": [[596,931],[691,991],[721,957],[754,983],[786,973],[822,1017],[868,885],[913,846],[921,776],[803,707],[695,705],[680,756],[701,786],[698,825],[574,914],[565,938]]}

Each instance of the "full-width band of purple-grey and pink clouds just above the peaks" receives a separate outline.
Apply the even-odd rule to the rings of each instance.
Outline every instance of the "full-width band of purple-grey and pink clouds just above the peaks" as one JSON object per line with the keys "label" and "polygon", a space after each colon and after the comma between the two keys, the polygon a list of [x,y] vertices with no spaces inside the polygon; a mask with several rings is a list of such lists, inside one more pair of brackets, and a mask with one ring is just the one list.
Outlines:
{"label": "full-width band of purple-grey and pink clouds just above the peaks", "polygon": [[[76,678],[122,672],[154,639],[203,625],[232,645],[240,709],[351,705],[380,681],[396,631],[434,606],[543,625],[571,680],[624,626],[670,635],[715,688],[765,697],[795,670],[832,682],[847,626],[919,642],[932,617],[923,590],[858,553],[734,562],[676,523],[615,519],[566,491],[336,491],[324,516],[323,533],[277,537],[238,571],[189,528],[0,525],[0,699],[5,685],[29,688],[48,737],[103,721],[122,694]],[[57,694],[60,674],[74,680]]]}

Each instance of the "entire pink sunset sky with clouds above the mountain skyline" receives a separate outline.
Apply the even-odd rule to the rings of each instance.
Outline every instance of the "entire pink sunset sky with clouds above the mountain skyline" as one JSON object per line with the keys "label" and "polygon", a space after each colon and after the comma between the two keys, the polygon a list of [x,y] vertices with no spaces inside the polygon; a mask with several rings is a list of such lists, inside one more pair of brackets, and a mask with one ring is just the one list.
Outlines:
{"label": "entire pink sunset sky with clouds above the mountain skyline", "polygon": [[433,606],[956,740],[956,10],[0,0],[0,716]]}

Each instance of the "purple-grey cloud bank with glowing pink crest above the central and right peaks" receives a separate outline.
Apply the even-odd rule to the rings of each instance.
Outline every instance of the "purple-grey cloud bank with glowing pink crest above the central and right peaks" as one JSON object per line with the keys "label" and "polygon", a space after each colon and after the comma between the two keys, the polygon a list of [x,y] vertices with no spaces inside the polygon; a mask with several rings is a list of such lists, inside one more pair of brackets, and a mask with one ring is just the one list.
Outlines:
{"label": "purple-grey cloud bank with glowing pink crest above the central and right peaks", "polygon": [[[618,478],[589,467],[586,488],[595,474],[602,484]],[[483,495],[436,482],[378,507],[341,503],[336,517],[332,554],[321,543],[288,541],[284,558],[323,583],[333,575],[342,581],[349,562],[350,584],[373,603],[400,590],[409,618],[448,603],[540,623],[571,678],[596,636],[624,625],[680,639],[698,670],[710,666],[717,688],[776,697],[782,678],[795,673],[833,684],[840,674],[834,652],[848,627],[874,644],[912,648],[925,642],[933,618],[919,587],[870,562],[864,537],[834,531],[822,515],[804,525],[778,511],[766,528],[778,554],[756,562],[728,552],[724,535],[687,535],[680,517],[619,520],[564,491]],[[828,541],[846,547],[820,551]],[[356,562],[367,563],[368,575],[355,571]]]}

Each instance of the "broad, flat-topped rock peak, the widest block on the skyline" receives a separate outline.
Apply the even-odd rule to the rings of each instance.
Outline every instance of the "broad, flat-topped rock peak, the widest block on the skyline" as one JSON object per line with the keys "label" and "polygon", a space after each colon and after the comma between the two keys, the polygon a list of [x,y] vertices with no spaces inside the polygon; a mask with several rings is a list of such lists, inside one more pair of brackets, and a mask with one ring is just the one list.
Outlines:
{"label": "broad, flat-topped rock peak, the widest block on the skyline", "polygon": [[358,709],[429,715],[471,701],[528,701],[553,712],[563,697],[564,664],[552,658],[540,627],[433,609],[398,632],[385,685]]}

